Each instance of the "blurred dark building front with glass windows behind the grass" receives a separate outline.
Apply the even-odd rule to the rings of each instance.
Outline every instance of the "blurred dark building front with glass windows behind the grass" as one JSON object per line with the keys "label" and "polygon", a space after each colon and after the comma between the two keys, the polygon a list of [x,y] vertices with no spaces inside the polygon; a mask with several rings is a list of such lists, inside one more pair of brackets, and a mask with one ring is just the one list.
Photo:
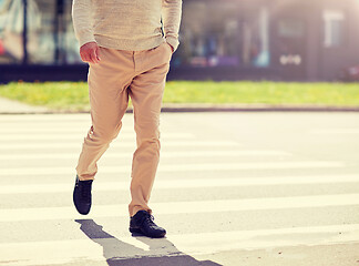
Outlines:
{"label": "blurred dark building front with glass windows behind the grass", "polygon": [[[0,82],[85,80],[72,0],[0,0]],[[335,81],[359,65],[358,0],[183,0],[168,79]]]}

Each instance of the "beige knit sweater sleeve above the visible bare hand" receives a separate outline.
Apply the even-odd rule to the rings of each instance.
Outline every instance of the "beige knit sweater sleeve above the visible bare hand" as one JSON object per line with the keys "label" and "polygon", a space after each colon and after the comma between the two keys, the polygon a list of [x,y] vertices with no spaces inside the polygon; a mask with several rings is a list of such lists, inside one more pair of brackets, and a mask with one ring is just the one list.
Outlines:
{"label": "beige knit sweater sleeve above the visible bare hand", "polygon": [[91,23],[91,0],[73,0],[72,21],[80,47],[95,42]]}

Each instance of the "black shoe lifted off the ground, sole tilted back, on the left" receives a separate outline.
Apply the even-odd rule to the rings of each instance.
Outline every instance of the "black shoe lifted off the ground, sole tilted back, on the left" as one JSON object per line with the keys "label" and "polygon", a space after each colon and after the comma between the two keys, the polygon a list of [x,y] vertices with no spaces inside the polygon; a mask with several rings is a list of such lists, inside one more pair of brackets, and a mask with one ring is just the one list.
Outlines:
{"label": "black shoe lifted off the ground, sole tilted back, on the left", "polygon": [[91,188],[92,180],[80,181],[76,176],[75,187],[73,190],[73,203],[80,214],[86,215],[91,208]]}

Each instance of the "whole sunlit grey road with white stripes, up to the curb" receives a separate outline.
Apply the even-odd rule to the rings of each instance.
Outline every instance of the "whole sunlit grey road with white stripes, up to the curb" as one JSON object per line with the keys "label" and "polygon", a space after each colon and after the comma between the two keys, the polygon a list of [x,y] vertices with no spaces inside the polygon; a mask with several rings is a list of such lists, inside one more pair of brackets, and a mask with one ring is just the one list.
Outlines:
{"label": "whole sunlit grey road with white stripes, up to the curb", "polygon": [[359,266],[359,113],[164,113],[151,198],[127,232],[132,114],[72,205],[88,114],[0,116],[0,265]]}

